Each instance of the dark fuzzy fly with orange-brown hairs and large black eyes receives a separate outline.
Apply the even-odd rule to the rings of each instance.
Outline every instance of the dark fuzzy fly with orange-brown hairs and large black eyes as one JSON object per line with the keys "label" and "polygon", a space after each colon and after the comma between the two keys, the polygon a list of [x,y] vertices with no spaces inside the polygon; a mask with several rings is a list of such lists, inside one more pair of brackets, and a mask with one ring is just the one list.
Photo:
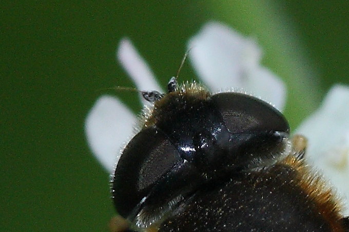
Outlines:
{"label": "dark fuzzy fly with orange-brown hairs and large black eyes", "polygon": [[175,81],[144,92],[154,107],[112,179],[130,231],[349,231],[278,110]]}

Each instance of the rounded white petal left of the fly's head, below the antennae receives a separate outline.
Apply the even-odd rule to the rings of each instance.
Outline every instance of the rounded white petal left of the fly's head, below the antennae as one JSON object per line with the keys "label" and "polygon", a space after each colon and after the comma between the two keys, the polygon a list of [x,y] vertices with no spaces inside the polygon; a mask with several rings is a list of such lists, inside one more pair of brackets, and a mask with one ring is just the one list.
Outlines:
{"label": "rounded white petal left of the fly's head, below the antennae", "polygon": [[136,117],[111,96],[100,97],[87,115],[88,144],[103,166],[111,172],[120,158],[123,143],[133,134]]}

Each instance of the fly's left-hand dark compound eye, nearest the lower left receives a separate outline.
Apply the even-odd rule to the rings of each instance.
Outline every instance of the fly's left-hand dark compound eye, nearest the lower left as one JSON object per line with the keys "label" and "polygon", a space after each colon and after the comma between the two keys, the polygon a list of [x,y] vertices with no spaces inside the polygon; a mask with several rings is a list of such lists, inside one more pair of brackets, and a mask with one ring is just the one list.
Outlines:
{"label": "fly's left-hand dark compound eye, nearest the lower left", "polygon": [[162,132],[147,128],[135,135],[114,174],[112,195],[118,213],[127,218],[178,161],[176,147]]}

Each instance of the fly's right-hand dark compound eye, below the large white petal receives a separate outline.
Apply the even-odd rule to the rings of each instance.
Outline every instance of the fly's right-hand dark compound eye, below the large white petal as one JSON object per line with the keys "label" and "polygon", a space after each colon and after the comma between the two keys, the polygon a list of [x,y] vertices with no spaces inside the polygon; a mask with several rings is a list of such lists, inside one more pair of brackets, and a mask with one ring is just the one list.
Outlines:
{"label": "fly's right-hand dark compound eye, below the large white petal", "polygon": [[232,134],[261,131],[289,132],[284,116],[267,102],[242,93],[219,93],[211,97]]}

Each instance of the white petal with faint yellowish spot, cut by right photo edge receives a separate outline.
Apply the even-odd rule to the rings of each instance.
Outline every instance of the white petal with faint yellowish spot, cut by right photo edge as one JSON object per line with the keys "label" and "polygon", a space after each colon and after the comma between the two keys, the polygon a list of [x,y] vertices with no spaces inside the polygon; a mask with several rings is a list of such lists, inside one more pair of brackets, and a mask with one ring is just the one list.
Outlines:
{"label": "white petal with faint yellowish spot, cut by right photo edge", "polygon": [[349,88],[334,86],[321,108],[297,130],[308,138],[307,157],[346,198],[349,215]]}

